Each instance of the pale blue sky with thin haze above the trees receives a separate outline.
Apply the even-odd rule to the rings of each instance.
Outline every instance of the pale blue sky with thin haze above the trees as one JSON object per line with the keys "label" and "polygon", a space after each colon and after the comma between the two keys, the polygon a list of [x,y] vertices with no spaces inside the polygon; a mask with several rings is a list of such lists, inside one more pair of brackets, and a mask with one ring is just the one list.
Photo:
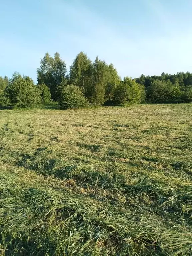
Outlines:
{"label": "pale blue sky with thin haze above the trees", "polygon": [[139,77],[192,72],[191,0],[0,0],[0,76],[36,81],[40,58],[84,51]]}

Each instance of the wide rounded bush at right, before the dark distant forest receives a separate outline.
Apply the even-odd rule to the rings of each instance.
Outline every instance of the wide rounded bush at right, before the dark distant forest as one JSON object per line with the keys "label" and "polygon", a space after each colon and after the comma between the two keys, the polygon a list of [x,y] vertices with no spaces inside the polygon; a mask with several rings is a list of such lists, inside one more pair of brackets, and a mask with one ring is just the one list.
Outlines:
{"label": "wide rounded bush at right, before the dark distant forest", "polygon": [[179,86],[173,85],[169,80],[155,80],[147,88],[147,98],[152,102],[163,102],[167,100],[177,100],[180,96]]}

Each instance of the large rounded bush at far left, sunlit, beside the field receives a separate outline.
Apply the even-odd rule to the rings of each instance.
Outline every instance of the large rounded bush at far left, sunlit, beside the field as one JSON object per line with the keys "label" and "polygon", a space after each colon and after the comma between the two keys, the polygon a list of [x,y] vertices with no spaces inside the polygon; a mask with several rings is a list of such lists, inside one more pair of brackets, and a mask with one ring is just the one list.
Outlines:
{"label": "large rounded bush at far left, sunlit, beside the field", "polygon": [[7,105],[18,108],[37,107],[42,103],[40,90],[33,80],[18,73],[9,80],[4,97],[7,98]]}

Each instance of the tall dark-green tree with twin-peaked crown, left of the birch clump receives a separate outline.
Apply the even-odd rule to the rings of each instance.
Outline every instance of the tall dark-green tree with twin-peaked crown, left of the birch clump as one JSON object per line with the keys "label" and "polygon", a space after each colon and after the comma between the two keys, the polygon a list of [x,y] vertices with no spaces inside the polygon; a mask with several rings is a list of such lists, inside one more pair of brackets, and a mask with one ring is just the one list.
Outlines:
{"label": "tall dark-green tree with twin-peaked crown, left of the birch clump", "polygon": [[53,100],[59,99],[58,86],[66,79],[66,72],[66,64],[58,52],[54,54],[54,57],[47,52],[40,60],[40,68],[37,69],[37,82],[49,87]]}

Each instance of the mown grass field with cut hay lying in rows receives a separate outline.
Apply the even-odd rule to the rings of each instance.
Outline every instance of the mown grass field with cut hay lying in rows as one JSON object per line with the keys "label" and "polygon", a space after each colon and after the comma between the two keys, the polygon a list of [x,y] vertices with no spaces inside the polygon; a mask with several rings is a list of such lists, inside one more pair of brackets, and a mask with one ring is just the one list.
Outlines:
{"label": "mown grass field with cut hay lying in rows", "polygon": [[0,255],[192,255],[192,104],[0,111]]}

